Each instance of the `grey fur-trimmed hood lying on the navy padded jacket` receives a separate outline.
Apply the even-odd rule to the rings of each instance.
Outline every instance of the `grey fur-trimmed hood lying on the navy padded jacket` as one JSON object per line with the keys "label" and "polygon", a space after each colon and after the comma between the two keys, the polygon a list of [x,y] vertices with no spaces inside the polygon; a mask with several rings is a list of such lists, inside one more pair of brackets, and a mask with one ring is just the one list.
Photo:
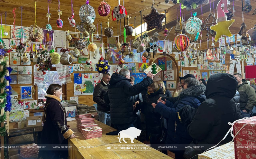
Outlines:
{"label": "grey fur-trimmed hood lying on the navy padded jacket", "polygon": [[201,96],[202,98],[205,98],[205,95],[204,95],[205,88],[206,86],[202,84],[189,87],[185,90],[182,90],[182,92],[179,95],[179,99],[182,99],[185,96],[194,96],[194,97]]}

